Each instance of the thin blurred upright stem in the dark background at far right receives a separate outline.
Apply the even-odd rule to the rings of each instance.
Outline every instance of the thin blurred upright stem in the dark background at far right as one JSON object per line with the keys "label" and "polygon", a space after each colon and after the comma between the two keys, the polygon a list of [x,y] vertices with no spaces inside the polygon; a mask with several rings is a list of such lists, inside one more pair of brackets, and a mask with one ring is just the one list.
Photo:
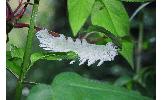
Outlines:
{"label": "thin blurred upright stem in the dark background at far right", "polygon": [[141,52],[142,52],[142,44],[143,44],[143,15],[140,16],[139,23],[139,37],[138,37],[138,45],[137,45],[137,57],[136,57],[136,72],[138,73],[141,68]]}

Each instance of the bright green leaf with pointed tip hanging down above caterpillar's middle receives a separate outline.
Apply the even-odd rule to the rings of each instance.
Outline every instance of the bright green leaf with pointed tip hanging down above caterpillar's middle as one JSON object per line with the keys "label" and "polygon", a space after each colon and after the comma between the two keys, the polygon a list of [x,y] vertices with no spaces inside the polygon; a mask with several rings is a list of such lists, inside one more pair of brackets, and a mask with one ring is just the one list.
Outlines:
{"label": "bright green leaf with pointed tip hanging down above caterpillar's middle", "polygon": [[91,13],[95,0],[68,0],[69,21],[76,36]]}

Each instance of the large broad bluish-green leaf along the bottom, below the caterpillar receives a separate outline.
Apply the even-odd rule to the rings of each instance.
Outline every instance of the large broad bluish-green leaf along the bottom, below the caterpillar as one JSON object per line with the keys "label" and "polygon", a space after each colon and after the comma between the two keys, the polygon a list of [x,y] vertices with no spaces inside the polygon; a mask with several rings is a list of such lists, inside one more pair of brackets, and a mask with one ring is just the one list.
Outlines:
{"label": "large broad bluish-green leaf along the bottom, below the caterpillar", "polygon": [[[41,97],[49,96],[49,99]],[[51,95],[52,94],[52,95]],[[137,92],[89,80],[72,72],[55,77],[51,87],[37,85],[32,88],[27,100],[152,100]]]}

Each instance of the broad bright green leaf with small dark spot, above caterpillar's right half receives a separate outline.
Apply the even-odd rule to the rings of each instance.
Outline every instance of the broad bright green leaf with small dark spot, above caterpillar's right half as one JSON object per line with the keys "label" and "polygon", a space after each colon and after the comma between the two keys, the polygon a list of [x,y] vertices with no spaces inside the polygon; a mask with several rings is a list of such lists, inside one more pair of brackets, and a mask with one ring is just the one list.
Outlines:
{"label": "broad bright green leaf with small dark spot, above caterpillar's right half", "polygon": [[94,4],[91,20],[93,25],[106,28],[116,36],[129,33],[129,17],[119,0],[99,0]]}

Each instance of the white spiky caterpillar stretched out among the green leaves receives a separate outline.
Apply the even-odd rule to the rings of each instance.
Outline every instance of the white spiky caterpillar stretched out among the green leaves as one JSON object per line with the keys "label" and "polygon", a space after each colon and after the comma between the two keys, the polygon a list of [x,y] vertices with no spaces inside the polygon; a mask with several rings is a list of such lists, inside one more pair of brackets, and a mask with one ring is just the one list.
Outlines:
{"label": "white spiky caterpillar stretched out among the green leaves", "polygon": [[[99,60],[97,66],[100,66],[104,61],[112,61],[118,55],[117,47],[112,42],[106,45],[89,44],[85,39],[82,41],[76,39],[73,41],[71,37],[65,38],[63,34],[59,37],[54,37],[48,33],[48,30],[40,30],[36,33],[40,41],[40,47],[52,52],[69,52],[73,51],[79,56],[79,65],[84,64],[88,60],[88,66]],[[71,61],[72,64],[75,61]]]}

